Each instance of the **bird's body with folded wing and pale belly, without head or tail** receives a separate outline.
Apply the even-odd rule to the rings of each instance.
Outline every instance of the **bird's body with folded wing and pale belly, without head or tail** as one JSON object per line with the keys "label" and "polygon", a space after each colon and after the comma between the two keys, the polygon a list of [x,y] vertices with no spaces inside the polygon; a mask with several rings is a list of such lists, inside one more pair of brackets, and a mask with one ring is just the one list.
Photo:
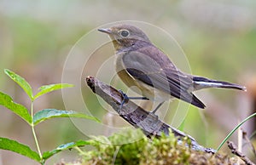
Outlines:
{"label": "bird's body with folded wing and pale belly, without head or tail", "polygon": [[188,91],[193,80],[179,71],[172,61],[151,43],[137,42],[137,47],[119,51],[116,69],[123,82],[137,86],[152,100],[172,97],[187,101],[200,108],[205,105]]}

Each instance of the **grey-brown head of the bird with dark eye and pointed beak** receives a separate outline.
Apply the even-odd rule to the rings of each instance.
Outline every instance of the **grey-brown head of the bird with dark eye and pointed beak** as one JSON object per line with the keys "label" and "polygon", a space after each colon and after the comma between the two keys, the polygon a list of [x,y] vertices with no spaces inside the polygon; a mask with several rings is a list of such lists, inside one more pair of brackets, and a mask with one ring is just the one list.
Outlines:
{"label": "grey-brown head of the bird with dark eye and pointed beak", "polygon": [[106,29],[98,29],[98,31],[107,33],[109,35],[116,50],[121,48],[130,48],[138,41],[150,43],[146,34],[136,26],[119,25]]}

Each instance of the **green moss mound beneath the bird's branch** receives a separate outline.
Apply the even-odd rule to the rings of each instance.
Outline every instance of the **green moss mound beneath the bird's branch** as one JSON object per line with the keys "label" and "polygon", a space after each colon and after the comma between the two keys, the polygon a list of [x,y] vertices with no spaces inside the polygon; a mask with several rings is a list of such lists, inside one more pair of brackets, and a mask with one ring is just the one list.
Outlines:
{"label": "green moss mound beneath the bird's branch", "polygon": [[230,156],[194,151],[188,146],[190,144],[188,138],[184,138],[183,143],[179,143],[173,134],[169,136],[162,134],[160,138],[148,139],[139,129],[127,129],[108,138],[92,137],[90,143],[94,146],[94,150],[78,149],[82,156],[79,162],[60,164],[234,164],[238,161]]}

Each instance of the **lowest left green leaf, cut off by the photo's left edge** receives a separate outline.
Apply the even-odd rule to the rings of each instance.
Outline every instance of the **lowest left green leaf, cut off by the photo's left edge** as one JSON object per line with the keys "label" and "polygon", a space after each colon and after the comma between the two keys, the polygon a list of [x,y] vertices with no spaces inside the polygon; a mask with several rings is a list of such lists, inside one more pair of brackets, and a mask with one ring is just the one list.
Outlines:
{"label": "lowest left green leaf, cut off by the photo's left edge", "polygon": [[40,162],[40,156],[36,151],[32,151],[28,146],[20,144],[13,139],[0,137],[0,149],[16,152],[22,156],[27,156],[37,162]]}

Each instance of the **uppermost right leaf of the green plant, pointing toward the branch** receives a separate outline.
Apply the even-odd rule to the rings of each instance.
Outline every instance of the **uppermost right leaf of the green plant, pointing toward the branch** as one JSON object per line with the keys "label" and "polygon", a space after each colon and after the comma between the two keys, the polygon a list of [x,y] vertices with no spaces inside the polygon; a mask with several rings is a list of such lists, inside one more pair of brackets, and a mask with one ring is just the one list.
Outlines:
{"label": "uppermost right leaf of the green plant, pointing toward the branch", "polygon": [[69,83],[57,83],[57,84],[44,85],[39,88],[40,92],[38,92],[38,94],[34,96],[34,100],[36,100],[39,96],[43,94],[47,94],[51,91],[59,90],[61,88],[71,88],[73,86],[74,86],[73,84],[69,84]]}

